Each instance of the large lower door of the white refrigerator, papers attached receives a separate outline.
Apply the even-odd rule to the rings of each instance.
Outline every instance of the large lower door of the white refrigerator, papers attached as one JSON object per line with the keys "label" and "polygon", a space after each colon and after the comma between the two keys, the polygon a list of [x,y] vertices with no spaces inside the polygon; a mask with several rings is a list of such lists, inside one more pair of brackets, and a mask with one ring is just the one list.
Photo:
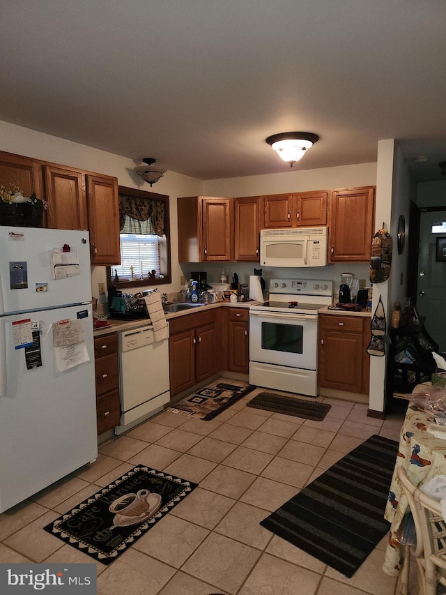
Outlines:
{"label": "large lower door of the white refrigerator, papers attached", "polygon": [[[91,315],[79,319],[88,361],[60,370],[52,324],[78,320],[83,306],[20,313],[0,318],[0,512],[94,460],[95,364]],[[38,323],[33,349],[15,349],[13,322]],[[59,347],[68,363],[76,346]],[[39,365],[41,363],[41,365]],[[31,366],[31,368],[29,368]]]}

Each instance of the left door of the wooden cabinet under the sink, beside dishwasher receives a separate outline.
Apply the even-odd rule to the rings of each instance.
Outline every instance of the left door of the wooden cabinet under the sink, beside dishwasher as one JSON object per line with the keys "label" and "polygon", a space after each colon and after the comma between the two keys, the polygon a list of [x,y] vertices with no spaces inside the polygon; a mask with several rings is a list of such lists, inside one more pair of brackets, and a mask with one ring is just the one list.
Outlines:
{"label": "left door of the wooden cabinet under the sink, beside dishwasher", "polygon": [[178,395],[195,384],[195,331],[169,338],[170,394]]}

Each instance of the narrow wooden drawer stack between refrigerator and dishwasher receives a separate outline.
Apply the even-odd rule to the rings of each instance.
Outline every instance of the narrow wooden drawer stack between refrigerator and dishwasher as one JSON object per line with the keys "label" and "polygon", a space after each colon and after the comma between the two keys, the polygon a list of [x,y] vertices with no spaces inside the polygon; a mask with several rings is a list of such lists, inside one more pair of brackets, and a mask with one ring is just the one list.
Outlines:
{"label": "narrow wooden drawer stack between refrigerator and dishwasher", "polygon": [[94,340],[96,378],[96,421],[98,435],[119,425],[118,335],[110,333]]}

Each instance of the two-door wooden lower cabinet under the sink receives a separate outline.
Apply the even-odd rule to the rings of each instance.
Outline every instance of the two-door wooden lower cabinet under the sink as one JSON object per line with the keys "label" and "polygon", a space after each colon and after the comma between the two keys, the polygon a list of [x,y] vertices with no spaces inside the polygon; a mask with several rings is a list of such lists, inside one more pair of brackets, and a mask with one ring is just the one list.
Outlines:
{"label": "two-door wooden lower cabinet under the sink", "polygon": [[208,310],[171,319],[169,322],[171,397],[192,388],[220,370],[217,319],[217,310]]}

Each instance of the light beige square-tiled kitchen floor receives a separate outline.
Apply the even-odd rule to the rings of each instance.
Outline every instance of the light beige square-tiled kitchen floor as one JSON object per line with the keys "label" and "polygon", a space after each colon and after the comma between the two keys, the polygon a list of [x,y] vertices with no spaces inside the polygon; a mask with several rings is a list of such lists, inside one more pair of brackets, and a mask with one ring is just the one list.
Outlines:
{"label": "light beige square-tiled kitchen floor", "polygon": [[141,463],[199,487],[116,562],[97,563],[99,595],[394,595],[386,538],[348,579],[259,522],[364,439],[398,440],[403,414],[381,421],[322,397],[321,422],[246,407],[261,390],[212,421],[162,412],[101,444],[93,465],[0,515],[0,562],[91,563],[42,527]]}

